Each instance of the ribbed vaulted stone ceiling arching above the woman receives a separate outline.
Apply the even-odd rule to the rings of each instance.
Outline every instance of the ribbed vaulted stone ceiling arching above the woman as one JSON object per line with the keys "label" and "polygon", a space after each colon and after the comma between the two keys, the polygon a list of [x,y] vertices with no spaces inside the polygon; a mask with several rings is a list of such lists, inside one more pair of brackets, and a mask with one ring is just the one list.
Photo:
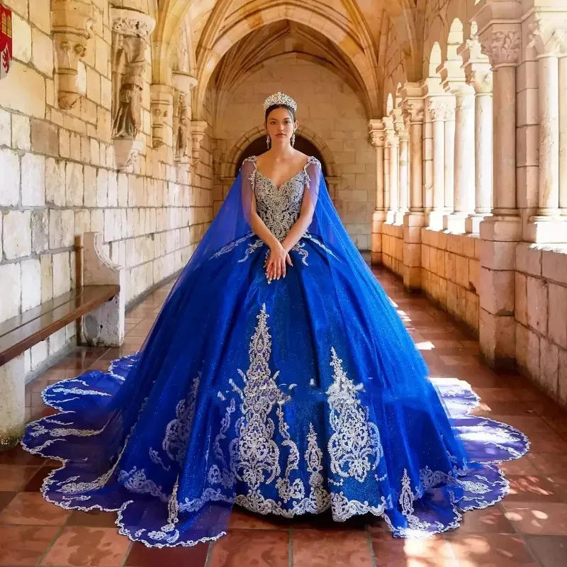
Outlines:
{"label": "ribbed vaulted stone ceiling arching above the woman", "polygon": [[[386,43],[405,52],[412,80],[421,54],[415,19],[422,0],[159,0],[157,63],[171,60],[179,28],[189,28],[191,72],[198,79],[193,109],[215,86],[228,91],[259,65],[294,52],[339,74],[361,94],[369,116],[381,107]],[[419,62],[419,63],[418,63]],[[161,65],[163,67],[163,65]],[[213,82],[213,83],[211,83]]]}

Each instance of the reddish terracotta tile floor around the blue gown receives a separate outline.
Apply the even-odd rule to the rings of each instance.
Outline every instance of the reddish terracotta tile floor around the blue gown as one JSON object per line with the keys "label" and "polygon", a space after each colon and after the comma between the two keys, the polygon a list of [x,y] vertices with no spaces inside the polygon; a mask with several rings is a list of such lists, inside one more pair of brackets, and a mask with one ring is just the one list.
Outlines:
{"label": "reddish terracotta tile floor around the blue gown", "polygon": [[[147,549],[118,535],[114,515],[62,510],[43,500],[43,478],[56,465],[21,449],[0,453],[0,567],[445,567],[567,565],[567,412],[529,381],[483,366],[478,342],[422,297],[408,296],[398,279],[376,271],[395,301],[432,376],[456,376],[482,398],[477,412],[520,427],[532,451],[503,465],[510,494],[503,503],[467,512],[459,530],[427,540],[393,539],[381,522],[328,516],[286,522],[243,511],[214,544]],[[47,384],[138,349],[171,285],[127,313],[120,349],[77,347],[26,387],[28,418],[52,412],[40,392]]]}

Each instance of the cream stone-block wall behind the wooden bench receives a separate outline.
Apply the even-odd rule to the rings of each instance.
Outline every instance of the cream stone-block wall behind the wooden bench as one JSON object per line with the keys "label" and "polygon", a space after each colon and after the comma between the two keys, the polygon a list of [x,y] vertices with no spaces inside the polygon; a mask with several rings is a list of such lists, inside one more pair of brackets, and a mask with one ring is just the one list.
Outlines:
{"label": "cream stone-block wall behind the wooden bench", "polygon": [[[50,2],[4,4],[13,9],[15,40],[0,84],[0,322],[74,286],[74,237],[89,230],[101,232],[106,252],[127,268],[132,303],[184,266],[210,223],[210,135],[196,168],[176,166],[171,143],[152,147],[148,42],[138,134],[144,144],[133,171],[118,172],[108,1],[93,3],[93,37],[79,66],[84,96],[70,110],[57,99]],[[203,112],[210,123],[209,100]],[[27,352],[26,369],[59,352],[74,332],[69,325]]]}

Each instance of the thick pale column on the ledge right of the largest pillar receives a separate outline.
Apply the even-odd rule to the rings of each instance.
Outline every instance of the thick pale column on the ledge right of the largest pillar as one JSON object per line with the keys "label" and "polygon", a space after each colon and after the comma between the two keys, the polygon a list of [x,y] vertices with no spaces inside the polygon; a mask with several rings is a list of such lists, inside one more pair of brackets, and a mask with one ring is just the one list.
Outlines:
{"label": "thick pale column on the ledge right of the largest pillar", "polygon": [[[559,55],[567,54],[567,28],[557,29],[554,14],[534,15],[529,47],[538,60],[539,184],[538,207],[529,220],[529,240],[567,242],[567,223],[559,210]],[[563,94],[565,96],[565,94]]]}

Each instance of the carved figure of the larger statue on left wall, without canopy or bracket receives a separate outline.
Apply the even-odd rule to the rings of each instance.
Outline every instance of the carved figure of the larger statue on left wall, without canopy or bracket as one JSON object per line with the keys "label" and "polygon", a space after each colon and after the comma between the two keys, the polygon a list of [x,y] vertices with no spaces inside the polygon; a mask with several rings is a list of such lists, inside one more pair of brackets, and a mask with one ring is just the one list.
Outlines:
{"label": "carved figure of the larger statue on left wall, without canopy or bracket", "polygon": [[142,121],[142,74],[146,42],[133,35],[116,35],[113,57],[112,137],[135,138]]}

